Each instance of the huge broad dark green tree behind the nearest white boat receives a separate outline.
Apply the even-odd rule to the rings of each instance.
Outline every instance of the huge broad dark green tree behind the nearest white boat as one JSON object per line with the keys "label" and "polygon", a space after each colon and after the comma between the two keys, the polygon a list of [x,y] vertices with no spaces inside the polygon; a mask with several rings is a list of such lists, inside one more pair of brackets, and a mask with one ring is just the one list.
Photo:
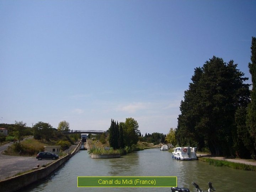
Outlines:
{"label": "huge broad dark green tree behind the nearest white boat", "polygon": [[208,147],[212,154],[235,155],[235,113],[249,103],[249,84],[233,60],[213,57],[196,68],[185,91],[178,116],[176,139],[180,145]]}

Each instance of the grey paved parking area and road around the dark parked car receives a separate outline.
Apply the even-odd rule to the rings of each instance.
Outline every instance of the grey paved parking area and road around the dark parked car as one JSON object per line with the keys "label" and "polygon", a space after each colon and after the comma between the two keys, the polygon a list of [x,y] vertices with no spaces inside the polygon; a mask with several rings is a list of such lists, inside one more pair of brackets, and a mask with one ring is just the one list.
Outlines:
{"label": "grey paved parking area and road around the dark parked car", "polygon": [[38,161],[36,157],[10,156],[3,155],[2,152],[8,148],[13,142],[0,146],[0,180],[27,170],[31,170],[37,165],[46,165],[54,160]]}

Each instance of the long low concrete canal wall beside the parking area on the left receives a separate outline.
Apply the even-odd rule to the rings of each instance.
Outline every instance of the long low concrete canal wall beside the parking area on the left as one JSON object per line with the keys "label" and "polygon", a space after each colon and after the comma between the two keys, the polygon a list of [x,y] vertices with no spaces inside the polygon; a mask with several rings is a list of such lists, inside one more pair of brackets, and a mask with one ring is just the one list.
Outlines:
{"label": "long low concrete canal wall beside the parking area on the left", "polygon": [[59,158],[58,160],[54,161],[52,164],[46,167],[41,167],[40,169],[33,170],[31,172],[0,181],[0,191],[1,192],[17,191],[22,187],[25,187],[27,185],[30,185],[33,182],[36,182],[44,177],[47,177],[53,171],[58,169],[60,165],[62,165],[67,160],[69,160],[77,151],[79,151],[80,146],[81,146],[81,142],[78,144],[78,146],[76,146],[76,148],[72,151],[72,153],[69,153],[63,158]]}

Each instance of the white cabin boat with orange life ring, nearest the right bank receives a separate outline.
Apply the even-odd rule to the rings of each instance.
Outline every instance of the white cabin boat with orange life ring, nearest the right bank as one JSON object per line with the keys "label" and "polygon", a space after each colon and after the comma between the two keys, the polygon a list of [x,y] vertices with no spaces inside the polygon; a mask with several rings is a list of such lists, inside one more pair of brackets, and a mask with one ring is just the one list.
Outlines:
{"label": "white cabin boat with orange life ring, nearest the right bank", "polygon": [[172,152],[172,159],[197,160],[196,147],[176,147]]}

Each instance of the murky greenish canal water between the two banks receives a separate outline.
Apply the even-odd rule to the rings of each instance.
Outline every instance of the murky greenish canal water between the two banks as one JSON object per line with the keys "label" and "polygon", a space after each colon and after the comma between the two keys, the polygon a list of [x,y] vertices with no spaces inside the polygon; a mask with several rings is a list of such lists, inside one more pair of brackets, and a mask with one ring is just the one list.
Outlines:
{"label": "murky greenish canal water between the two banks", "polygon": [[67,161],[59,170],[46,179],[26,187],[22,192],[62,191],[62,192],[170,192],[171,188],[85,188],[77,187],[78,176],[177,176],[178,187],[208,190],[208,182],[213,183],[216,192],[255,191],[256,172],[235,170],[229,167],[214,167],[202,161],[178,161],[172,154],[160,149],[146,149],[124,155],[117,159],[91,159],[87,151],[80,151]]}

